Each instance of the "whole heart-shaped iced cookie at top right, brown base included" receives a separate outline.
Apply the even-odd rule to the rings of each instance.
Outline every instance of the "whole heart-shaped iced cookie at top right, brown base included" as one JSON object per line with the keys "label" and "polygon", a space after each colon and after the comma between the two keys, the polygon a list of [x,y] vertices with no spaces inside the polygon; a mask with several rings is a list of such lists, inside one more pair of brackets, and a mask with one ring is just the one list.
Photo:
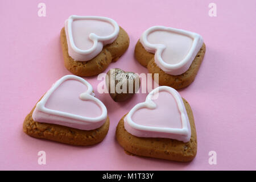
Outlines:
{"label": "whole heart-shaped iced cookie at top right, brown base included", "polygon": [[148,28],[135,46],[135,58],[148,72],[159,74],[159,85],[175,89],[195,80],[204,54],[199,34],[164,26]]}

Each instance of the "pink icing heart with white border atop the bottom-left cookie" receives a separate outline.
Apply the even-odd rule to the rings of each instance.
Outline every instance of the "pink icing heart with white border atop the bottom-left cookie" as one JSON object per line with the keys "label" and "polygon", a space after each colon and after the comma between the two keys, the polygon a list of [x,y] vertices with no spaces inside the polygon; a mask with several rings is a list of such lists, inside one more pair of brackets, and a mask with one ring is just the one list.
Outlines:
{"label": "pink icing heart with white border atop the bottom-left cookie", "polygon": [[32,118],[37,122],[93,130],[104,124],[107,110],[94,97],[92,85],[81,77],[67,75],[44,94],[36,104]]}

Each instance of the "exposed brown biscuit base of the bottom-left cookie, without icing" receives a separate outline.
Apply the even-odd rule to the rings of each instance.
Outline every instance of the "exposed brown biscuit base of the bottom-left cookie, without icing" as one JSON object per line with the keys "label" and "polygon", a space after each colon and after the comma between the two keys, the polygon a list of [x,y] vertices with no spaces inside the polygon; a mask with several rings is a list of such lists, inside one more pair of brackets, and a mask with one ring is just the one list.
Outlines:
{"label": "exposed brown biscuit base of the bottom-left cookie, without icing", "polygon": [[32,118],[35,107],[23,122],[23,131],[35,138],[53,140],[55,142],[72,144],[75,146],[90,146],[100,143],[108,134],[109,117],[104,125],[95,130],[79,130],[67,126],[36,122]]}

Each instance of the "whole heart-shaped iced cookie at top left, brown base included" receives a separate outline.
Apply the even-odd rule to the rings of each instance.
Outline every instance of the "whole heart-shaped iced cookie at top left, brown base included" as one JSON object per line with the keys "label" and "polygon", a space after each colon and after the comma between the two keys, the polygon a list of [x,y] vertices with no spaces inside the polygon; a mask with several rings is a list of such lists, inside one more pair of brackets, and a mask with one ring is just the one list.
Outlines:
{"label": "whole heart-shaped iced cookie at top left, brown base included", "polygon": [[105,71],[129,47],[129,36],[113,19],[70,16],[60,32],[65,67],[77,76]]}

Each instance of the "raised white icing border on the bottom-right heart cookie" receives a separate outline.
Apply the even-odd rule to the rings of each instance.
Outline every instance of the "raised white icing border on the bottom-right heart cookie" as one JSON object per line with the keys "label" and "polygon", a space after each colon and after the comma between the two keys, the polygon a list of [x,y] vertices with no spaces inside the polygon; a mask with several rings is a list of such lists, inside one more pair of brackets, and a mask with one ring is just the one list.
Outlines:
{"label": "raised white icing border on the bottom-right heart cookie", "polygon": [[[174,129],[174,128],[168,128],[168,127],[143,126],[143,125],[139,125],[139,124],[135,123],[133,121],[133,119],[131,119],[132,115],[138,109],[141,109],[143,107],[147,107],[148,109],[155,109],[156,104],[151,98],[152,98],[152,96],[154,96],[154,94],[161,92],[161,91],[169,92],[172,94],[172,96],[174,96],[174,98],[177,102],[178,109],[181,114],[182,129]],[[133,107],[133,109],[131,109],[129,111],[129,113],[126,115],[126,119],[127,119],[127,124],[135,131],[142,130],[142,131],[155,131],[156,133],[174,134],[174,135],[177,135],[177,137],[173,138],[173,139],[182,140],[183,142],[188,142],[191,138],[191,127],[190,127],[190,123],[189,123],[189,119],[188,119],[188,115],[187,115],[187,110],[185,109],[183,100],[182,100],[180,94],[175,89],[173,89],[169,86],[159,86],[158,88],[155,88],[154,90],[152,90],[146,97],[145,102],[141,102],[141,103],[135,105]],[[135,133],[137,133],[137,132],[135,132]],[[131,133],[131,134],[135,135],[135,133]],[[174,135],[172,135],[172,137],[174,137]],[[142,137],[142,135],[139,135],[137,137]]]}

